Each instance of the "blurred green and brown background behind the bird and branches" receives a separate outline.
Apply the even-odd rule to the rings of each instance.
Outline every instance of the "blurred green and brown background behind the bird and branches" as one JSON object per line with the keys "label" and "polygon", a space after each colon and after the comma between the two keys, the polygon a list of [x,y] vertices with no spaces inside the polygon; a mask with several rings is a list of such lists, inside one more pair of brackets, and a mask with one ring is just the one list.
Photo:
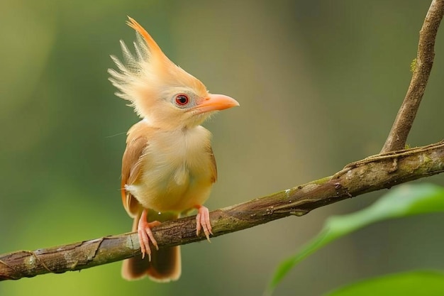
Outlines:
{"label": "blurred green and brown background behind the bird and branches", "polygon": [[[430,1],[0,2],[0,253],[121,234],[125,133],[138,121],[106,69],[139,21],[171,60],[240,107],[213,132],[210,209],[331,175],[378,153],[409,85]],[[444,28],[411,146],[444,135]],[[443,176],[421,182],[444,184]],[[0,283],[0,295],[260,295],[274,267],[331,214],[383,192],[182,247],[171,284],[121,279],[121,263]],[[444,268],[442,215],[389,221],[299,265],[275,295],[320,295],[409,268]]]}

